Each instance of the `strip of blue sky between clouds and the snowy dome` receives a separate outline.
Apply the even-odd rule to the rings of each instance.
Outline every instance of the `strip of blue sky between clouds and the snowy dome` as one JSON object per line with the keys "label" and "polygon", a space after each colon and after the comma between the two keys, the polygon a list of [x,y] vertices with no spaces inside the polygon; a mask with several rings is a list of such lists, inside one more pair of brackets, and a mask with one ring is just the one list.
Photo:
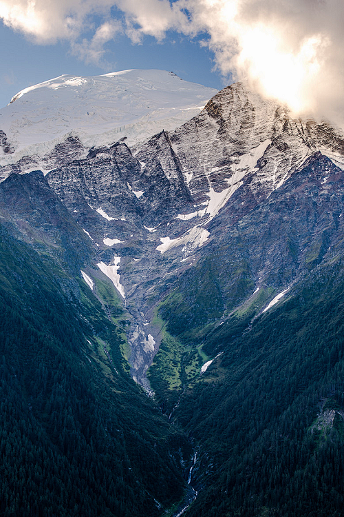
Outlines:
{"label": "strip of blue sky between clouds and the snowy dome", "polygon": [[161,43],[146,36],[135,44],[122,35],[105,46],[107,65],[94,65],[72,55],[67,41],[39,45],[0,22],[0,108],[23,88],[61,74],[89,76],[128,68],[173,71],[186,81],[220,90],[231,82],[230,74],[225,79],[213,70],[213,53],[200,46],[200,39],[169,32]]}

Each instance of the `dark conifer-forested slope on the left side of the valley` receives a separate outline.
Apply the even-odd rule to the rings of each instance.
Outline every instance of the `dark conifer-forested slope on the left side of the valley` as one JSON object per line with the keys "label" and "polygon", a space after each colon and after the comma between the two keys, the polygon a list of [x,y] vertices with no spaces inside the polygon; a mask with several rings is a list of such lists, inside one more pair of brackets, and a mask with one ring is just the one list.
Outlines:
{"label": "dark conifer-forested slope on the left side of the valley", "polygon": [[45,260],[1,226],[0,513],[158,516],[189,444],[129,377],[120,327]]}

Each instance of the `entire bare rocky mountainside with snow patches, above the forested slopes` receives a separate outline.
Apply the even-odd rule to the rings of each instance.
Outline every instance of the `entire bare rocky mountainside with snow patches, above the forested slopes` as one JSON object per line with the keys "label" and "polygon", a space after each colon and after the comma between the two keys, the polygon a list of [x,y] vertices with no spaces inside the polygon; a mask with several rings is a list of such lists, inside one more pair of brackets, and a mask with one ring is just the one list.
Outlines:
{"label": "entire bare rocky mountainside with snow patches, above the forested slopes", "polygon": [[[166,296],[178,294],[175,321],[182,311],[186,324],[242,304],[259,312],[343,252],[343,135],[292,119],[242,83],[135,152],[124,141],[86,149],[68,139],[42,159],[51,169],[47,198],[58,199],[92,250],[89,276],[107,276],[130,314],[132,375],[147,389],[161,338],[154,315]],[[202,301],[202,312],[204,278],[214,301]]]}

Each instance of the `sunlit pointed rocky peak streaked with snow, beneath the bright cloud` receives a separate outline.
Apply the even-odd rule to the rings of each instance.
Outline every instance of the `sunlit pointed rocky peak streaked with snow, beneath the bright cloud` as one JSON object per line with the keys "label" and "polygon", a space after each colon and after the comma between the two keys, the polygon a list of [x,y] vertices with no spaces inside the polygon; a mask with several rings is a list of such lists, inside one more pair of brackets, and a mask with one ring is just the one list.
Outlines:
{"label": "sunlit pointed rocky peak streaked with snow, beneath the bright cloud", "polygon": [[269,194],[317,150],[343,164],[343,135],[327,123],[291,119],[287,108],[242,83],[216,94],[171,142],[191,193],[202,200],[211,189],[235,189],[250,172],[251,188]]}

